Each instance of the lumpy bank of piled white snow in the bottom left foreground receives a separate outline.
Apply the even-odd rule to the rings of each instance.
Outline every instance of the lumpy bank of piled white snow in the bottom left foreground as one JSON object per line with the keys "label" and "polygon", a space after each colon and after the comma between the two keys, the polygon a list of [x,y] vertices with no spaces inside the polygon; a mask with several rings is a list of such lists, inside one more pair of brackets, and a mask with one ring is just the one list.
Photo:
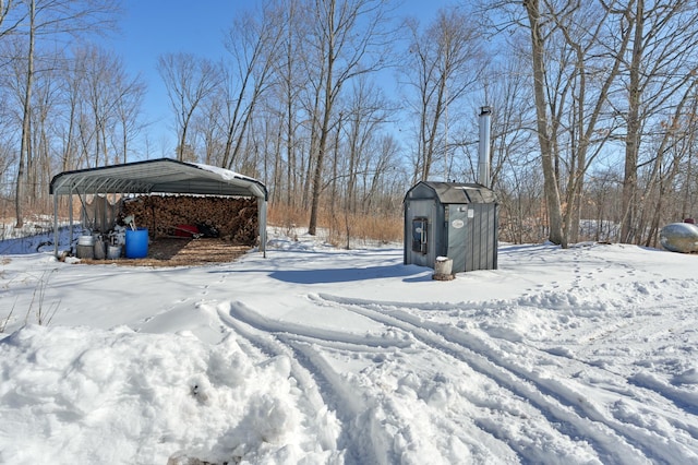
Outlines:
{"label": "lumpy bank of piled white snow in the bottom left foreground", "polygon": [[290,360],[254,362],[233,334],[212,346],[186,332],[28,325],[0,341],[0,375],[1,463],[326,463],[336,452],[299,443],[333,419],[301,412]]}

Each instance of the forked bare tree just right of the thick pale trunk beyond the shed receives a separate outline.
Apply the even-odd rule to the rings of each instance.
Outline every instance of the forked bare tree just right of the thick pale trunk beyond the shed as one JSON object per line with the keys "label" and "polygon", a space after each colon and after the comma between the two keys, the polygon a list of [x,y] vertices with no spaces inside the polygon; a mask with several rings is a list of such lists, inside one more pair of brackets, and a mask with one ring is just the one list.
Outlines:
{"label": "forked bare tree just right of the thick pale trunk beyond the shed", "polygon": [[[555,118],[561,123],[558,144],[564,141],[567,154],[563,234],[567,241],[577,242],[587,172],[617,130],[609,99],[630,37],[609,34],[614,26],[624,29],[628,24],[623,14],[597,5],[565,5],[551,10],[550,16],[561,34],[561,51],[569,58],[566,63],[559,60],[565,63],[564,85],[557,94],[555,106],[561,111]],[[614,45],[612,50],[607,44]]]}

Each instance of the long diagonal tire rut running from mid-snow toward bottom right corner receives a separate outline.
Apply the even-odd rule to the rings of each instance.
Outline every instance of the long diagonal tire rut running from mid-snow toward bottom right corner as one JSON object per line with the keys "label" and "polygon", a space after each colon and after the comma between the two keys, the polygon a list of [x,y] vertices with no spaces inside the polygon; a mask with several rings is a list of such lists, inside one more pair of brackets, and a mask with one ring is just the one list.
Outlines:
{"label": "long diagonal tire rut running from mid-snow toward bottom right corner", "polygon": [[[637,431],[619,421],[606,418],[597,406],[570,390],[559,385],[551,386],[545,380],[507,361],[504,355],[495,355],[482,341],[461,330],[421,320],[399,310],[393,305],[374,301],[345,299],[329,295],[318,295],[320,300],[338,305],[347,310],[370,318],[388,326],[411,333],[424,344],[465,361],[476,371],[493,379],[514,394],[529,400],[551,420],[557,429],[570,438],[586,439],[599,453],[604,463],[641,463],[655,457],[660,451],[648,450],[645,441],[647,431]],[[369,307],[377,308],[373,310]],[[670,441],[671,442],[671,441]],[[653,438],[652,443],[657,443]],[[669,444],[667,444],[669,445]],[[673,445],[678,445],[674,443]],[[670,462],[675,458],[671,445],[661,451]],[[526,452],[522,452],[526,456]]]}

